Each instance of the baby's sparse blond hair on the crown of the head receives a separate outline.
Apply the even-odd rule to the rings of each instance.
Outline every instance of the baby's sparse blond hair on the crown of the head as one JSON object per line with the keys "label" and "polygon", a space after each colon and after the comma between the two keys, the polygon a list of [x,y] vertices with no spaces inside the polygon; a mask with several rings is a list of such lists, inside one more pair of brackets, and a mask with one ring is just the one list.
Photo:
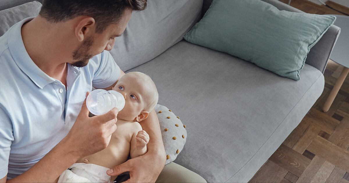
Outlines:
{"label": "baby's sparse blond hair on the crown of the head", "polygon": [[155,108],[155,106],[159,100],[159,93],[157,92],[156,85],[155,85],[153,79],[151,79],[150,76],[148,76],[144,73],[141,73],[141,72],[131,72],[131,73],[127,73],[127,74],[128,75],[135,75],[138,79],[143,80],[144,84],[150,85],[153,88],[153,93],[149,98],[149,103],[146,105],[146,108],[144,109],[148,112],[151,112]]}

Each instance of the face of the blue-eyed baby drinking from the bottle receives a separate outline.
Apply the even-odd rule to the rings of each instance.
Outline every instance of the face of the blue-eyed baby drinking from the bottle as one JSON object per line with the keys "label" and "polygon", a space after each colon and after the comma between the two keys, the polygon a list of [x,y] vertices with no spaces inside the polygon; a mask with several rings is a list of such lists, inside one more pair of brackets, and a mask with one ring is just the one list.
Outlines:
{"label": "face of the blue-eyed baby drinking from the bottle", "polygon": [[151,88],[138,79],[135,75],[126,74],[120,78],[112,88],[125,97],[125,107],[119,112],[118,119],[137,121],[139,116],[149,104]]}

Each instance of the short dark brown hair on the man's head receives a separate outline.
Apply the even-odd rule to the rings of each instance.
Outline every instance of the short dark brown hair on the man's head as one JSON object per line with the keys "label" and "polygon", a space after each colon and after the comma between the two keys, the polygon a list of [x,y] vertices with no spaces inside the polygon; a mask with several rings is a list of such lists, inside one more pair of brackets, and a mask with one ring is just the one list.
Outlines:
{"label": "short dark brown hair on the man's head", "polygon": [[147,0],[44,0],[39,15],[52,23],[65,22],[77,16],[95,19],[96,32],[118,23],[126,8],[142,11]]}

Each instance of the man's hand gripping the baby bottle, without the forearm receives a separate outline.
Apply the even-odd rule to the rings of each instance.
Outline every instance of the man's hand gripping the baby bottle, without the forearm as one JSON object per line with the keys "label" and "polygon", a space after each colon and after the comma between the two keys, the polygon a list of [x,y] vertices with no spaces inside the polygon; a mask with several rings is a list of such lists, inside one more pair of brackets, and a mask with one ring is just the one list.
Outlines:
{"label": "man's hand gripping the baby bottle, without the forearm", "polygon": [[[88,94],[89,92],[86,98]],[[88,117],[86,98],[72,129],[65,137],[70,147],[74,148],[73,153],[81,158],[105,149],[117,128],[115,124],[118,115],[117,108],[103,115]]]}

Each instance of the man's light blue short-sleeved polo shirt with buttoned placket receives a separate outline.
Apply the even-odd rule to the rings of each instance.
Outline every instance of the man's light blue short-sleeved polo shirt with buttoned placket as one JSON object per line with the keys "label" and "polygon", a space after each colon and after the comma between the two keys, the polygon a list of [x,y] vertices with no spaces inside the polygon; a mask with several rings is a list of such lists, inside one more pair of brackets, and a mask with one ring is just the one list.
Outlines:
{"label": "man's light blue short-sleeved polo shirt with buttoned placket", "polygon": [[92,86],[111,86],[120,75],[104,51],[85,67],[68,64],[66,89],[39,69],[25,50],[21,27],[32,18],[0,37],[0,178],[14,178],[43,158],[72,128],[85,93]]}

